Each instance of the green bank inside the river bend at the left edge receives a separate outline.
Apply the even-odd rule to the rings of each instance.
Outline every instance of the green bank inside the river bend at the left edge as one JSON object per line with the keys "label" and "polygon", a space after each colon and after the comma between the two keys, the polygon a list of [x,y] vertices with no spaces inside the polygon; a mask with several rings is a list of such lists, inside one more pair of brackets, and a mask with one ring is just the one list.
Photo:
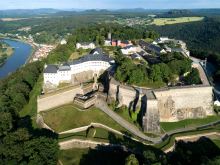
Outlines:
{"label": "green bank inside the river bend at the left edge", "polygon": [[14,53],[14,48],[4,41],[0,42],[0,66],[4,65],[7,58]]}

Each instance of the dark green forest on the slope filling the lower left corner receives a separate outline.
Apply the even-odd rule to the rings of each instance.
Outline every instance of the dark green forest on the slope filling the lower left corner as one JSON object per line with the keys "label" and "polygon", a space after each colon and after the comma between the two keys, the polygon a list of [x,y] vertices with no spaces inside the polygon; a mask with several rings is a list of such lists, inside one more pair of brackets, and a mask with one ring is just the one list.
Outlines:
{"label": "dark green forest on the slope filling the lower left corner", "polygon": [[56,164],[57,135],[32,127],[19,112],[42,73],[43,63],[27,64],[0,81],[0,164]]}

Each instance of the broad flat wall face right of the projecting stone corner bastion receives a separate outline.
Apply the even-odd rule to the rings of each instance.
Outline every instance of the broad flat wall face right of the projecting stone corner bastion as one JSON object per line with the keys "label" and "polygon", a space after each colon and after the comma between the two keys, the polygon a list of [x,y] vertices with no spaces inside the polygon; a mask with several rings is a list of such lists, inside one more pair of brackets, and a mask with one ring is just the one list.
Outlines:
{"label": "broad flat wall face right of the projecting stone corner bastion", "polygon": [[187,87],[154,91],[161,122],[213,115],[212,87]]}

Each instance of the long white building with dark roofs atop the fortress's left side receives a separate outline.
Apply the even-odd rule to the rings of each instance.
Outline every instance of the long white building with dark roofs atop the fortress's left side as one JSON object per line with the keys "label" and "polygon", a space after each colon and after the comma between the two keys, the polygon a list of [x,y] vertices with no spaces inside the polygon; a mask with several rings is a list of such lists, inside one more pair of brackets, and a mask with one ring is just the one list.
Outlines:
{"label": "long white building with dark roofs atop the fortress's left side", "polygon": [[99,51],[93,51],[93,54],[86,55],[78,60],[68,62],[62,65],[46,65],[44,69],[44,84],[53,84],[55,86],[62,82],[71,82],[74,75],[92,71],[99,75],[111,67],[114,60]]}

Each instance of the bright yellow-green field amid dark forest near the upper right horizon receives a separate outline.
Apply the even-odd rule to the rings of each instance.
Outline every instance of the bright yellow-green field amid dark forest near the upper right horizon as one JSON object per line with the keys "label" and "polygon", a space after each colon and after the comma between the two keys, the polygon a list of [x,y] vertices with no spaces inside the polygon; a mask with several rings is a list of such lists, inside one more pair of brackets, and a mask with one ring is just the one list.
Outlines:
{"label": "bright yellow-green field amid dark forest near the upper right horizon", "polygon": [[157,26],[202,21],[204,17],[155,18],[151,24]]}

